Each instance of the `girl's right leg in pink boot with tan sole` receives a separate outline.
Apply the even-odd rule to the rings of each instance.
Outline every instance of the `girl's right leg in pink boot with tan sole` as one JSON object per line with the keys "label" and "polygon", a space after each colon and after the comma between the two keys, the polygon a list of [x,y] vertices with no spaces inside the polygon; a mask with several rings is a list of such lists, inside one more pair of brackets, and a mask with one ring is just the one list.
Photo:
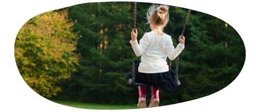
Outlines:
{"label": "girl's right leg in pink boot with tan sole", "polygon": [[159,105],[159,88],[151,87],[151,100],[148,107],[156,107]]}

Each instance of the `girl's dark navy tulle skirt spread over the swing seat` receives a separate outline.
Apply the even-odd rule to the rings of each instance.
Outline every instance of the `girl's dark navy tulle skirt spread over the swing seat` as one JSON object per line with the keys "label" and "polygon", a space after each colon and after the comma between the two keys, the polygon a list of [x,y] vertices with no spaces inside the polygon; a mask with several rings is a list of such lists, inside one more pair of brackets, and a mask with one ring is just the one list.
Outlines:
{"label": "girl's dark navy tulle skirt spread over the swing seat", "polygon": [[[135,65],[135,81],[158,87],[167,92],[173,92],[176,89],[177,80],[172,70],[161,73],[141,73],[138,71],[139,63]],[[125,75],[127,79],[131,77],[131,72]]]}

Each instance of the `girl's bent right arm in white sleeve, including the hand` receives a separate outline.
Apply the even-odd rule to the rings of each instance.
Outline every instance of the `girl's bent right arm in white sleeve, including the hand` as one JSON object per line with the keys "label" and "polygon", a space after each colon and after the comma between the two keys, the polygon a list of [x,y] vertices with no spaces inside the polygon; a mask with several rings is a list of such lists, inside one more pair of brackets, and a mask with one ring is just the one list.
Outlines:
{"label": "girl's bent right arm in white sleeve, including the hand", "polygon": [[171,37],[167,39],[167,42],[165,44],[166,45],[165,53],[167,54],[168,58],[171,60],[175,59],[185,48],[185,45],[184,45],[185,37],[183,37],[184,39],[180,39],[180,38],[181,37],[179,37],[180,43],[177,45],[175,49],[174,49]]}

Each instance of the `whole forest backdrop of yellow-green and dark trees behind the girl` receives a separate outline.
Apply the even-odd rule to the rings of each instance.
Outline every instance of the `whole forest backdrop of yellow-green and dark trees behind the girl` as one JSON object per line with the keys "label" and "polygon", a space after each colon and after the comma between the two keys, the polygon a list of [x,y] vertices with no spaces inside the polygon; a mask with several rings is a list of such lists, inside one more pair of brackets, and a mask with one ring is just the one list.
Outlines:
{"label": "whole forest backdrop of yellow-green and dark trees behind the girl", "polygon": [[[137,3],[139,39],[150,31],[145,25],[150,5]],[[187,10],[169,8],[164,33],[171,35],[174,46]],[[25,23],[17,35],[17,66],[28,86],[50,100],[137,103],[138,88],[124,78],[132,68],[132,25],[130,2],[86,3],[42,13]],[[185,37],[179,57],[182,85],[173,93],[160,90],[160,105],[217,92],[234,81],[244,66],[243,40],[232,26],[212,15],[192,10]],[[174,63],[169,63],[171,69]]]}

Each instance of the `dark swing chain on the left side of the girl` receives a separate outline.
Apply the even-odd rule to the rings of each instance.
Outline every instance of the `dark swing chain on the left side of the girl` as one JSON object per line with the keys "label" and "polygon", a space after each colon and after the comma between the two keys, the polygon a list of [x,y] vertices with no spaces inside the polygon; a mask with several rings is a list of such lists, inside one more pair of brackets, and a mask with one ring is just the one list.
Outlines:
{"label": "dark swing chain on the left side of the girl", "polygon": [[[134,2],[134,16],[133,16],[133,29],[136,29],[136,19],[137,18],[137,3]],[[135,80],[135,53],[132,50],[132,81]]]}

